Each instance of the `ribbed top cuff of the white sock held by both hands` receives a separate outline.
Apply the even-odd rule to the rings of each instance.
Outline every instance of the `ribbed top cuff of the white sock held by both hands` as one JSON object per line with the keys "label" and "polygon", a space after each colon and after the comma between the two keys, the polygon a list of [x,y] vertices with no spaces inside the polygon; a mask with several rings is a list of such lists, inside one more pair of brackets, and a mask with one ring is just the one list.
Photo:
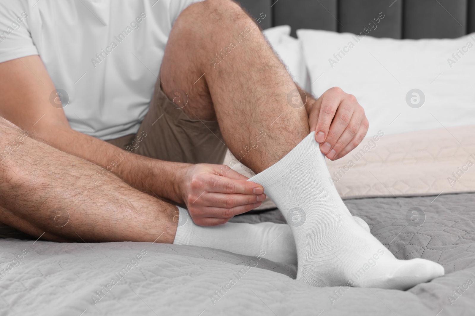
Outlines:
{"label": "ribbed top cuff of the white sock held by both hands", "polygon": [[282,179],[285,174],[298,167],[315,151],[318,151],[323,156],[323,153],[320,152],[319,144],[315,141],[315,132],[311,132],[298,145],[296,145],[294,149],[287,153],[284,158],[263,172],[250,178],[248,181],[256,182],[263,186],[270,186]]}

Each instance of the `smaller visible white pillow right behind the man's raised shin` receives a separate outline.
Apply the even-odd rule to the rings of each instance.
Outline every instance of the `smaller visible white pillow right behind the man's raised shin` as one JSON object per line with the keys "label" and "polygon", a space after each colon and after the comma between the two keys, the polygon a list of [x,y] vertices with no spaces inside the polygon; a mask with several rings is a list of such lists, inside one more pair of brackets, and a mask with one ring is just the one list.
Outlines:
{"label": "smaller visible white pillow right behind the man's raised shin", "polygon": [[294,81],[304,90],[310,91],[310,79],[305,66],[304,54],[299,40],[290,36],[290,30],[290,26],[281,25],[268,28],[263,33],[287,67]]}

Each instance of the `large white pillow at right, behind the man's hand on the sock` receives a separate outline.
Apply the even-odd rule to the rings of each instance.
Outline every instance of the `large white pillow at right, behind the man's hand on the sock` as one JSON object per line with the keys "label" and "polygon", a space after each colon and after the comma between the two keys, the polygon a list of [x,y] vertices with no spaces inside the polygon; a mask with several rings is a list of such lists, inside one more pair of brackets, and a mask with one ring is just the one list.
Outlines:
{"label": "large white pillow at right, behind the man's hand on the sock", "polygon": [[304,29],[297,35],[312,93],[337,86],[355,95],[370,121],[367,136],[475,124],[475,33],[420,40]]}

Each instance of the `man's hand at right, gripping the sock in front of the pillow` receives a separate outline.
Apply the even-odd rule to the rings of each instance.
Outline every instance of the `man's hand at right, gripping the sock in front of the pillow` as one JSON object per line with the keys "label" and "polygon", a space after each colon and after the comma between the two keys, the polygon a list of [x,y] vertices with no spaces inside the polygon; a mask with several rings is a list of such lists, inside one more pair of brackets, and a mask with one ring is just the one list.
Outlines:
{"label": "man's hand at right, gripping the sock in front of the pillow", "polygon": [[310,108],[310,131],[330,160],[351,152],[366,135],[368,119],[356,98],[340,88],[326,90]]}

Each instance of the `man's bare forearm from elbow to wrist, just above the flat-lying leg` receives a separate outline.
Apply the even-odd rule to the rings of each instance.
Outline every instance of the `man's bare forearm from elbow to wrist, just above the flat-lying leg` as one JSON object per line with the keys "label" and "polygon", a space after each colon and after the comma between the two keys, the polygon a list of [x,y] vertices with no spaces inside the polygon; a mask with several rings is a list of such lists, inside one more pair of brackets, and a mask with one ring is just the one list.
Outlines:
{"label": "man's bare forearm from elbow to wrist, just above the flat-lying leg", "polygon": [[123,150],[68,126],[49,127],[37,135],[61,151],[102,166],[96,172],[94,182],[102,182],[112,172],[137,190],[183,202],[178,185],[181,173],[189,166],[187,163],[172,163],[137,155],[129,152],[132,145],[129,150]]}

